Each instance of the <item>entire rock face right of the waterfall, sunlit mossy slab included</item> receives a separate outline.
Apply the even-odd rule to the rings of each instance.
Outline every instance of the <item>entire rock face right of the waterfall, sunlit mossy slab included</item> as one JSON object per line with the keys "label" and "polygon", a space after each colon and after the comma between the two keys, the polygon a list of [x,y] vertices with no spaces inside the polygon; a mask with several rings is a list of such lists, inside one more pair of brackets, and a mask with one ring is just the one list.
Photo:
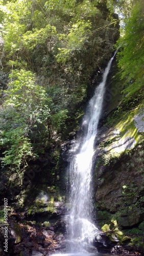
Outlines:
{"label": "entire rock face right of the waterfall, sunlit mossy slab included", "polygon": [[[123,81],[117,71],[114,60],[95,138],[94,198],[98,210],[107,211],[115,216],[119,225],[131,228],[144,218],[144,110],[142,104],[139,108],[137,105],[129,108],[128,104],[121,103]],[[101,222],[102,217],[99,216],[98,221]]]}

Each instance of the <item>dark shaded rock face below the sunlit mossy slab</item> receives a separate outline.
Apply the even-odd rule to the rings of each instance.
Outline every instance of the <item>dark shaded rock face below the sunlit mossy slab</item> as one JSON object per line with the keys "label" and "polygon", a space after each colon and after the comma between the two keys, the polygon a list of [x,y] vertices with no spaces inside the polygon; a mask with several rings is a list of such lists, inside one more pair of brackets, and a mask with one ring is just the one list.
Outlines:
{"label": "dark shaded rock face below the sunlit mossy slab", "polygon": [[[98,209],[115,215],[118,224],[128,228],[138,225],[143,215],[143,161],[141,147],[131,153],[109,159],[97,156],[95,172],[95,201]],[[108,161],[108,162],[107,162]],[[111,217],[112,218],[112,217]],[[101,217],[100,217],[101,219]]]}

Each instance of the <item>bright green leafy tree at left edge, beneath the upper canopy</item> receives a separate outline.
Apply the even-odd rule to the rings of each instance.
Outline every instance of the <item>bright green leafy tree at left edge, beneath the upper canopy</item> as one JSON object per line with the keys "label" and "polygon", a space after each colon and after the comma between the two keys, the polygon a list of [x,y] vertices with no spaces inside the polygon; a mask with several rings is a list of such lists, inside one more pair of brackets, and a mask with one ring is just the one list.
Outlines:
{"label": "bright green leafy tree at left edge, beneath the upper canopy", "polygon": [[36,117],[46,103],[42,87],[35,84],[34,74],[12,70],[5,102],[1,107],[1,146],[5,148],[2,164],[23,174],[28,158],[35,157],[29,138]]}

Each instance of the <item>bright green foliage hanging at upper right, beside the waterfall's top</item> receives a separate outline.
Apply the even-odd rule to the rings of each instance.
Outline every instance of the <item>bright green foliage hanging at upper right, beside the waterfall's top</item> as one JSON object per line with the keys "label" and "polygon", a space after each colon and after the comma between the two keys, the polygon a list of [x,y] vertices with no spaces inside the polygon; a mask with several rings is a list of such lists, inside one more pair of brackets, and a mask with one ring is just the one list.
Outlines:
{"label": "bright green foliage hanging at upper right, beside the waterfall's top", "polygon": [[123,49],[118,54],[118,66],[122,78],[126,79],[124,93],[129,96],[143,87],[143,11],[143,1],[136,1],[131,17],[127,19],[125,35],[118,41]]}

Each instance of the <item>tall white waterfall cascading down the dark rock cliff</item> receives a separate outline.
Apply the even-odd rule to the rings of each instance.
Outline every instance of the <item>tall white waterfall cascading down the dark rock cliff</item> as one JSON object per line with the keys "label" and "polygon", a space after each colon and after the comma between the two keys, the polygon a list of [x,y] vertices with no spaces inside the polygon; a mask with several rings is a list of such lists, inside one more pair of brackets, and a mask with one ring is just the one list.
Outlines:
{"label": "tall white waterfall cascading down the dark rock cliff", "polygon": [[[115,56],[115,54],[114,54]],[[83,141],[77,141],[73,148],[73,157],[69,164],[70,180],[70,215],[67,218],[70,252],[83,251],[85,243],[89,243],[99,232],[92,224],[92,193],[91,167],[94,154],[94,139],[102,112],[106,79],[111,67],[110,59],[103,74],[103,80],[90,99],[86,114],[83,118]]]}

